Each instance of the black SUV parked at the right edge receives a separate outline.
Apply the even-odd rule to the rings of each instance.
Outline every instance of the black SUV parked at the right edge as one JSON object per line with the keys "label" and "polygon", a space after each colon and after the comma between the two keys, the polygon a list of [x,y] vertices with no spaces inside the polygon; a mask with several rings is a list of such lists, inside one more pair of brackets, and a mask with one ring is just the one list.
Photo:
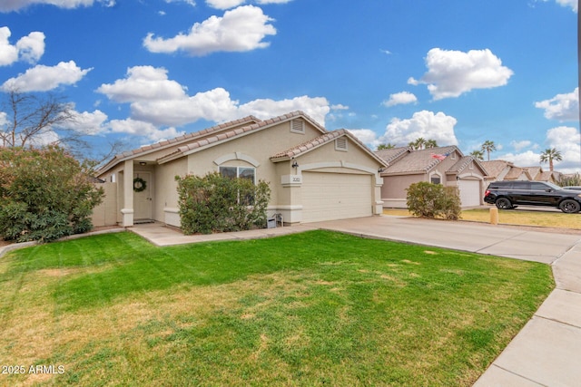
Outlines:
{"label": "black SUV parked at the right edge", "polygon": [[559,186],[542,181],[495,181],[488,185],[484,201],[496,204],[497,208],[516,208],[523,206],[558,207],[567,214],[581,209],[581,193],[573,189],[562,189]]}

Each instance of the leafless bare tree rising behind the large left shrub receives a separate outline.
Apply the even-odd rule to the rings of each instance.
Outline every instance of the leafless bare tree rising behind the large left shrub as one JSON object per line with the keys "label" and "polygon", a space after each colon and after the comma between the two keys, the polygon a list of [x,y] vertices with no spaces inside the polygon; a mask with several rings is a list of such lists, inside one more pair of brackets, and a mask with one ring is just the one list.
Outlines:
{"label": "leafless bare tree rising behind the large left shrub", "polygon": [[[5,127],[0,127],[0,141],[4,147],[25,147],[34,142],[47,142],[59,125],[74,120],[74,111],[63,97],[52,93],[35,94],[17,90],[6,92],[2,103]],[[79,140],[81,133],[67,130],[51,143]]]}

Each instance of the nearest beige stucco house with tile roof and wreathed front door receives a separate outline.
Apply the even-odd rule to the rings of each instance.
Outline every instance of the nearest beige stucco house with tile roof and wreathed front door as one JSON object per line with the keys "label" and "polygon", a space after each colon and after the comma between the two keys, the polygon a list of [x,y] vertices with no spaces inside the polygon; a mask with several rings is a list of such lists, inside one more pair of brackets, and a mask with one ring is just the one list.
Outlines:
{"label": "nearest beige stucco house with tile roof and wreathed front door", "polygon": [[[269,182],[269,216],[280,213],[292,224],[380,214],[379,169],[385,167],[349,131],[327,131],[295,111],[266,121],[250,116],[127,151],[97,177],[115,184],[109,208],[124,227],[147,220],[179,227],[175,176],[209,172]],[[134,184],[142,180],[140,191]]]}

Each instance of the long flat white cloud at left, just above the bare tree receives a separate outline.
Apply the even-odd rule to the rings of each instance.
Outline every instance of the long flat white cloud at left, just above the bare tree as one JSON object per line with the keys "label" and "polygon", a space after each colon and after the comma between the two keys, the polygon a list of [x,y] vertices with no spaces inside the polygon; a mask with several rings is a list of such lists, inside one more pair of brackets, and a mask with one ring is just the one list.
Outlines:
{"label": "long flat white cloud at left, just above the bare tree", "polygon": [[74,63],[61,62],[56,66],[36,65],[26,70],[16,78],[10,78],[2,85],[2,90],[17,90],[19,92],[47,92],[62,84],[79,82],[92,69],[81,69]]}

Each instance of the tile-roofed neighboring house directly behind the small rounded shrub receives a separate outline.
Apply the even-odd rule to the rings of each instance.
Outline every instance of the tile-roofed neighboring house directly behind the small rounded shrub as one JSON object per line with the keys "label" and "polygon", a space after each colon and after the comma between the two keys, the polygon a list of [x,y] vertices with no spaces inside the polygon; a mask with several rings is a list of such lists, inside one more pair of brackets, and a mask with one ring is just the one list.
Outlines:
{"label": "tile-roofed neighboring house directly behind the small rounded shrub", "polygon": [[384,208],[407,208],[407,189],[419,181],[458,187],[464,208],[483,203],[487,172],[478,160],[464,156],[456,146],[428,150],[394,148],[378,150],[376,154],[388,164],[381,172]]}

